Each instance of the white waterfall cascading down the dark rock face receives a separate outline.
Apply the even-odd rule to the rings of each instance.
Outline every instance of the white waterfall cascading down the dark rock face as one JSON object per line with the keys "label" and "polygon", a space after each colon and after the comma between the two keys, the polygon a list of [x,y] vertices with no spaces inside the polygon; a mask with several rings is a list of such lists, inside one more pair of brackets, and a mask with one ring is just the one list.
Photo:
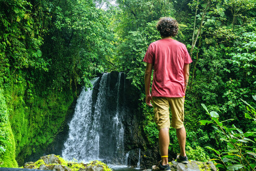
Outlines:
{"label": "white waterfall cascading down the dark rock face", "polygon": [[66,160],[126,164],[122,123],[125,76],[120,72],[114,85],[110,76],[105,73],[100,80],[92,80],[93,89],[83,89],[79,95],[62,151]]}

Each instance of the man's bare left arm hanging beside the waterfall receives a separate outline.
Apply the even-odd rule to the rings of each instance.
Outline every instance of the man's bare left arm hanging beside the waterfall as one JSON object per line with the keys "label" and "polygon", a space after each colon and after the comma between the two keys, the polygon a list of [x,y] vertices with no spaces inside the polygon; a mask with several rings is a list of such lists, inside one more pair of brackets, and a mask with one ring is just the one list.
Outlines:
{"label": "man's bare left arm hanging beside the waterfall", "polygon": [[146,94],[146,103],[149,106],[152,106],[150,102],[152,100],[152,96],[150,94],[152,68],[153,68],[153,64],[147,63],[146,70],[145,70],[145,94]]}

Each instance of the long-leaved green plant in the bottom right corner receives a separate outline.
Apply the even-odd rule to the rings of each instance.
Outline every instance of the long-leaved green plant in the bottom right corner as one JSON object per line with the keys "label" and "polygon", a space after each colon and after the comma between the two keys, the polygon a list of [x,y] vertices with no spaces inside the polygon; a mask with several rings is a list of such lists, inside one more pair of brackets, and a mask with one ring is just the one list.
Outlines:
{"label": "long-leaved green plant in the bottom right corner", "polygon": [[226,168],[228,170],[238,170],[238,169],[245,169],[245,170],[254,170],[255,162],[256,162],[256,153],[255,153],[255,140],[253,137],[255,137],[255,109],[249,105],[246,101],[245,102],[247,106],[248,112],[250,114],[246,114],[246,118],[252,119],[252,126],[254,125],[253,132],[247,131],[243,132],[241,129],[237,128],[234,124],[232,127],[226,127],[224,126],[224,122],[234,119],[228,119],[224,121],[220,121],[219,115],[217,112],[212,111],[209,113],[208,109],[204,104],[202,104],[205,111],[210,115],[211,121],[201,120],[201,125],[205,124],[213,124],[214,128],[221,133],[223,136],[220,138],[221,141],[224,141],[227,144],[227,151],[220,152],[218,150],[215,150],[211,148],[210,146],[206,146],[206,148],[214,151],[217,155],[215,155],[217,158],[214,159],[217,162],[219,162],[216,167]]}

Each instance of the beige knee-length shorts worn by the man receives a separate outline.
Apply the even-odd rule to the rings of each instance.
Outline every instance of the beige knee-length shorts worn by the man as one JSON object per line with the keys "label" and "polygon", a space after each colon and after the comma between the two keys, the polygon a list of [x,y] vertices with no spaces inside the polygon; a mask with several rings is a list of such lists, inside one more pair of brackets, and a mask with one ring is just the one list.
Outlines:
{"label": "beige knee-length shorts worn by the man", "polygon": [[154,120],[157,129],[170,128],[169,107],[172,113],[172,127],[184,127],[184,97],[152,97]]}

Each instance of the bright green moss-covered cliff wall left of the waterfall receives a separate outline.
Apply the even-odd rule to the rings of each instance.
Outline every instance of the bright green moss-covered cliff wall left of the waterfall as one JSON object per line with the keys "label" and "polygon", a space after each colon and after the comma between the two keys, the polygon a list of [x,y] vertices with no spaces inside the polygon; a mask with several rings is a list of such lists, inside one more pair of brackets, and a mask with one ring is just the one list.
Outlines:
{"label": "bright green moss-covered cliff wall left of the waterfall", "polygon": [[17,162],[23,165],[28,155],[44,150],[53,141],[64,125],[74,93],[47,90],[42,95],[40,90],[33,90],[33,95],[28,95],[30,88],[26,81],[4,86],[1,95],[8,120],[2,132],[7,132],[8,141],[13,146],[0,154],[4,161],[0,167],[17,167]]}

